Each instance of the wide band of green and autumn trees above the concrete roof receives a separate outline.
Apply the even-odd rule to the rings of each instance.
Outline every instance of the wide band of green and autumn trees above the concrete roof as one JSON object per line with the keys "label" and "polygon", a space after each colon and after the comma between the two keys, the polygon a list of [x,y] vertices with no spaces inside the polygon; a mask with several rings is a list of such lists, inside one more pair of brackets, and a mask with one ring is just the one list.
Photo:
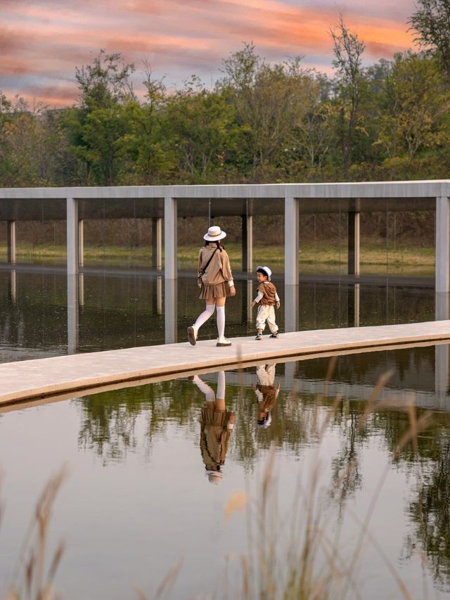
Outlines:
{"label": "wide band of green and autumn trees above the concrete roof", "polygon": [[245,44],[224,59],[214,89],[194,75],[168,90],[146,65],[140,99],[134,65],[102,50],[75,70],[74,106],[0,94],[0,185],[447,178],[447,4],[420,0],[409,21],[419,51],[369,67],[341,18],[330,31],[333,76],[299,58],[268,63]]}

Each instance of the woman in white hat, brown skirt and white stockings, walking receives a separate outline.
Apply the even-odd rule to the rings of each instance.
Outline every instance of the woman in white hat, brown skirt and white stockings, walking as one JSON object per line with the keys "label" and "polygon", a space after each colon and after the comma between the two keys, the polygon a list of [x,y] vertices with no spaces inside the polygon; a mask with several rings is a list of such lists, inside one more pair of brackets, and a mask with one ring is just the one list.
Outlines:
{"label": "woman in white hat, brown skirt and white stockings, walking", "polygon": [[198,282],[200,298],[205,300],[205,311],[197,321],[188,327],[188,340],[191,345],[197,343],[198,330],[206,323],[217,307],[217,346],[231,346],[231,341],[225,337],[225,300],[227,296],[236,295],[230,260],[221,240],[226,237],[225,231],[214,225],[203,236],[206,243],[198,254]]}

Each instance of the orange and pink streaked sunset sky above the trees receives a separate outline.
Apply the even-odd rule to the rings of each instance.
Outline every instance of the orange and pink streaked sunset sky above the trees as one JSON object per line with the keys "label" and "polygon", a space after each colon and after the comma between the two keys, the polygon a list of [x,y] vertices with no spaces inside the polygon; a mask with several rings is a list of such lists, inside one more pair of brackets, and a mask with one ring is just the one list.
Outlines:
{"label": "orange and pink streaked sunset sky above the trees", "polygon": [[[369,64],[413,47],[413,11],[413,0],[0,0],[0,91],[71,106],[75,67],[100,49],[138,71],[147,61],[170,89],[193,73],[211,85],[243,42],[266,60],[302,56],[304,67],[331,72],[329,30],[340,13]],[[139,93],[142,77],[134,77]]]}

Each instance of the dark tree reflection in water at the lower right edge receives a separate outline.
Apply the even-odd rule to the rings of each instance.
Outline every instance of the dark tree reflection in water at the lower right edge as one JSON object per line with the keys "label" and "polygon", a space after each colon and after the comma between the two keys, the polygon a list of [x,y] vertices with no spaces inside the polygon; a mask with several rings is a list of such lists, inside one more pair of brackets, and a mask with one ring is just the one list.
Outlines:
{"label": "dark tree reflection in water at the lower right edge", "polygon": [[[414,535],[408,540],[409,554],[420,543],[435,580],[450,585],[450,439],[442,443],[439,459],[428,462],[418,485],[416,499],[409,504]],[[417,540],[417,541],[416,541]]]}

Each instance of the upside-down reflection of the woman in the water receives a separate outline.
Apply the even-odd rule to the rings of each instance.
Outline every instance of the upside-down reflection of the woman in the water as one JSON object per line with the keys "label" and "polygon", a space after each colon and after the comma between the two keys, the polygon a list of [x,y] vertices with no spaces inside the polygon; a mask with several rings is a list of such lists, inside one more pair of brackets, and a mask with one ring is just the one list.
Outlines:
{"label": "upside-down reflection of the woman in the water", "polygon": [[208,480],[218,484],[223,476],[221,468],[225,463],[235,414],[225,409],[224,371],[217,374],[217,394],[197,375],[193,381],[205,394],[205,407],[200,418],[200,452]]}

